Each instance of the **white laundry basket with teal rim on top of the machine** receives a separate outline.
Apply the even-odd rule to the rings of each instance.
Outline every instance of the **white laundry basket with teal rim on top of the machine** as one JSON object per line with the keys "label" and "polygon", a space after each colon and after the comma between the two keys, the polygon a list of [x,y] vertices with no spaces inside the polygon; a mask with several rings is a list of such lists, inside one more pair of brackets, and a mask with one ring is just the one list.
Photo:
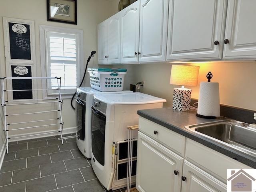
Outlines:
{"label": "white laundry basket with teal rim on top of the machine", "polygon": [[91,87],[102,92],[122,91],[127,69],[88,68]]}

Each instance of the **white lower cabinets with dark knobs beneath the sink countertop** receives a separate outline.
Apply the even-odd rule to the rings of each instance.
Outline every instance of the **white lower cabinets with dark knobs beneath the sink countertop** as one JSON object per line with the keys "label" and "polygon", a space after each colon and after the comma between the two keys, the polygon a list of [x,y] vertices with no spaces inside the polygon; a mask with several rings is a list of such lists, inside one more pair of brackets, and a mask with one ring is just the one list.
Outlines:
{"label": "white lower cabinets with dark knobs beneath the sink countertop", "polygon": [[[136,188],[140,192],[226,192],[226,176],[222,171],[226,172],[230,166],[250,168],[188,138],[179,140],[186,153],[178,155],[164,140],[168,137],[177,141],[177,135],[165,129],[163,132],[160,125],[140,117],[136,175]],[[211,169],[208,162],[215,168]]]}

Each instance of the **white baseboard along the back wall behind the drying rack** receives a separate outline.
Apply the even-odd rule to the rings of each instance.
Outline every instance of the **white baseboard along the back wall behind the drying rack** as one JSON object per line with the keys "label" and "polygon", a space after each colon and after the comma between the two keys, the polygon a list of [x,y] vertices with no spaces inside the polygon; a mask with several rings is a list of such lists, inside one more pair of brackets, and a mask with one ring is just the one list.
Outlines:
{"label": "white baseboard along the back wall behind the drying rack", "polygon": [[[16,134],[16,135],[10,135],[9,137],[11,138],[9,140],[9,142],[13,142],[13,141],[21,141],[21,140],[28,140],[28,139],[35,139],[35,138],[42,138],[42,137],[49,137],[49,136],[56,136],[59,135],[60,133],[56,132],[56,133],[47,133],[47,132],[53,132],[55,130],[51,130],[51,131],[39,131],[39,132],[33,132],[33,133],[29,133],[29,134]],[[58,130],[56,130],[58,131]],[[67,128],[63,128],[63,132],[62,134],[70,134],[70,133],[75,133],[76,132],[76,127],[67,127]],[[35,135],[35,134],[42,134],[42,135],[35,135],[35,136],[30,136],[30,135]],[[14,138],[13,137],[20,137],[20,138]]]}

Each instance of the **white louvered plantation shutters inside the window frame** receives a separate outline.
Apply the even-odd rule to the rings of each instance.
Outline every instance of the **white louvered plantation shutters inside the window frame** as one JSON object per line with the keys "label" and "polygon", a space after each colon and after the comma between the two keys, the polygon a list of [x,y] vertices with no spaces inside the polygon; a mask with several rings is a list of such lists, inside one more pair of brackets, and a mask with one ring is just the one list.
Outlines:
{"label": "white louvered plantation shutters inside the window frame", "polygon": [[[78,43],[77,35],[47,32],[48,76],[61,77],[61,89],[76,89]],[[56,89],[57,81],[48,82],[48,88]],[[65,91],[65,92],[73,92]]]}

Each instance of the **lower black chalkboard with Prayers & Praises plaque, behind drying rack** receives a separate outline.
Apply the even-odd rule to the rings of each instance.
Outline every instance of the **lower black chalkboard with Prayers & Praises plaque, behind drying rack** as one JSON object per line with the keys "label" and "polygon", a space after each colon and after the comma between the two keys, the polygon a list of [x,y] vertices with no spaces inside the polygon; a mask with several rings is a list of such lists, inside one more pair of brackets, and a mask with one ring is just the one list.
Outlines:
{"label": "lower black chalkboard with Prayers & Praises plaque, behind drying rack", "polygon": [[[31,77],[31,66],[12,65],[12,77]],[[31,79],[13,79],[13,90],[32,89]],[[13,91],[13,99],[32,99],[32,91]]]}

